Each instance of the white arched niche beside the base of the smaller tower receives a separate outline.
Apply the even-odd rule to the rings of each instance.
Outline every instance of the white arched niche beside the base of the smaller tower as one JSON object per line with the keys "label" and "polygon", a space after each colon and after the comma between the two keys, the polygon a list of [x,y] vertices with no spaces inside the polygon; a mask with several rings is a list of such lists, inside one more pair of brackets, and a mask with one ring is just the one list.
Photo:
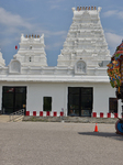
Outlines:
{"label": "white arched niche beside the base of the smaller tower", "polygon": [[10,74],[21,74],[21,63],[20,61],[12,59],[9,65]]}

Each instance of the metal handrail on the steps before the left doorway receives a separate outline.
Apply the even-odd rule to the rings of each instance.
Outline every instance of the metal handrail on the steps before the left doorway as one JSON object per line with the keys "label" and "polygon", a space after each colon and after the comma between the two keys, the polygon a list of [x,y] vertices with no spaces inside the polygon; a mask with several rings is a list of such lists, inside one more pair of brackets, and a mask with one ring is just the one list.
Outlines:
{"label": "metal handrail on the steps before the left doorway", "polygon": [[24,116],[24,112],[25,112],[25,109],[21,109],[16,112],[13,112],[9,116],[9,121],[15,121],[18,119],[20,119],[20,117],[23,117]]}

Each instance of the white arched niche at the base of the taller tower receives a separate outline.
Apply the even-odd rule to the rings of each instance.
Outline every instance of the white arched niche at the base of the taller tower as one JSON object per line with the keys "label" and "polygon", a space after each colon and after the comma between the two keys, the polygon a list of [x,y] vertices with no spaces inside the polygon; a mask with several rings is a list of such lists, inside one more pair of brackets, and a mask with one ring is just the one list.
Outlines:
{"label": "white arched niche at the base of the taller tower", "polygon": [[87,73],[87,64],[85,61],[80,59],[75,64],[75,74],[86,74]]}

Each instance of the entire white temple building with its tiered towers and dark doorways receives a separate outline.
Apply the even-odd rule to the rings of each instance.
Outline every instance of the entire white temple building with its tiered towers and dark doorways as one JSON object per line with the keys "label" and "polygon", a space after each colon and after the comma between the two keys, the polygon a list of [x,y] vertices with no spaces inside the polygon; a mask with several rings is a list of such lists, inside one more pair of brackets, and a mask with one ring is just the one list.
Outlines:
{"label": "entire white temple building with its tiered towers and dark doorways", "polygon": [[22,34],[9,66],[0,52],[2,113],[25,108],[26,116],[108,117],[111,110],[121,116],[121,102],[107,74],[111,55],[100,11],[72,8],[72,23],[57,66],[47,66],[44,34]]}

